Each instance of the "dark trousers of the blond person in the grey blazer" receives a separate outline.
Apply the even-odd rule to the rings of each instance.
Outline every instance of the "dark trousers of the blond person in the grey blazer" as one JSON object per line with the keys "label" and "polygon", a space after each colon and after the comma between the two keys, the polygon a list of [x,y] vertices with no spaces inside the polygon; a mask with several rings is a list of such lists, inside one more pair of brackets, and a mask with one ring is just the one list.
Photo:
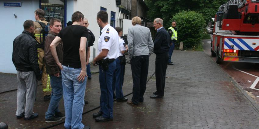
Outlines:
{"label": "dark trousers of the blond person in the grey blazer", "polygon": [[146,91],[149,56],[133,56],[130,66],[133,78],[133,96],[131,101],[134,104],[144,101]]}

